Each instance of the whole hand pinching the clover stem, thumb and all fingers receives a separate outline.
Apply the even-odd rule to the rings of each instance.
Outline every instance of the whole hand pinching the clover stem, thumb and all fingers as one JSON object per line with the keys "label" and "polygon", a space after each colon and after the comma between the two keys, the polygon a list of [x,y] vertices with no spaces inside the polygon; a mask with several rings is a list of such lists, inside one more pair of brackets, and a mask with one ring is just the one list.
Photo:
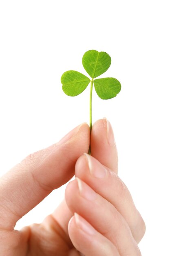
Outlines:
{"label": "whole hand pinching the clover stem, thumb and all fingers", "polygon": [[[145,224],[117,176],[113,130],[98,120],[35,152],[0,179],[0,256],[140,256]],[[41,224],[16,222],[71,177],[65,198]],[[55,204],[55,202],[53,202]]]}

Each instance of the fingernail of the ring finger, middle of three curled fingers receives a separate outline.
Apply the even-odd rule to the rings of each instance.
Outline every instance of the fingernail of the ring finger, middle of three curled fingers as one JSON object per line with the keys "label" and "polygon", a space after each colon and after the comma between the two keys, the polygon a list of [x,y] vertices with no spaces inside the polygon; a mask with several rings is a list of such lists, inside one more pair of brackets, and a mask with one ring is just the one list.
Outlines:
{"label": "fingernail of the ring finger, middle of three curled fingers", "polygon": [[93,189],[91,189],[87,184],[82,182],[82,180],[77,177],[75,178],[75,180],[77,180],[79,193],[83,198],[93,201],[97,197],[95,191],[93,191]]}

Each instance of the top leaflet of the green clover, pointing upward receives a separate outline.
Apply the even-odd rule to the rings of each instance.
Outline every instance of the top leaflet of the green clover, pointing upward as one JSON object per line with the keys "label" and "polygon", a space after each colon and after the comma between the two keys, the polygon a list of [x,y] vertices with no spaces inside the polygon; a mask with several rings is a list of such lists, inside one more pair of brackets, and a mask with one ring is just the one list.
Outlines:
{"label": "top leaflet of the green clover, pointing upward", "polygon": [[111,58],[106,52],[90,50],[83,55],[82,63],[89,76],[95,78],[108,70]]}

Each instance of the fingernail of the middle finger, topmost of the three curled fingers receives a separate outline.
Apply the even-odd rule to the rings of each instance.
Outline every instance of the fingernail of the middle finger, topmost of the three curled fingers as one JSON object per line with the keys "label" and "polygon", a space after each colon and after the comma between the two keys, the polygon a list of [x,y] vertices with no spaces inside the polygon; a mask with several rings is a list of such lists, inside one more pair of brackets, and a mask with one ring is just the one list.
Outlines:
{"label": "fingernail of the middle finger, topmost of the three curled fingers", "polygon": [[104,178],[106,176],[106,168],[90,155],[86,153],[84,155],[86,156],[91,175],[100,179]]}

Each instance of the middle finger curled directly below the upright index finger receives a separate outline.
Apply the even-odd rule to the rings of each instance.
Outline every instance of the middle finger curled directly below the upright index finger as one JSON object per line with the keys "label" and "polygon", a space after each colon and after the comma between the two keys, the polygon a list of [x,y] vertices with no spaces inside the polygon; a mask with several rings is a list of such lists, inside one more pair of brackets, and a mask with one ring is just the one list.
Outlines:
{"label": "middle finger curled directly below the upright index finger", "polygon": [[115,206],[139,243],[145,233],[145,223],[135,207],[130,192],[117,174],[105,168],[94,157],[86,154],[77,160],[75,176],[86,182],[96,193]]}

